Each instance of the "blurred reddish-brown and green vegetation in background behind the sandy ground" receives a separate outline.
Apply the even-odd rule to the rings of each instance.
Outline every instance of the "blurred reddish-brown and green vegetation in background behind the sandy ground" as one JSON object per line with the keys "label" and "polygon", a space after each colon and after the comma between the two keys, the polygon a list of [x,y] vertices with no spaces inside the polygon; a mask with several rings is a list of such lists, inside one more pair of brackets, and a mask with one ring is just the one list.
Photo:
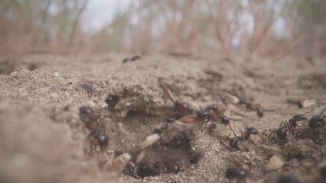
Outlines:
{"label": "blurred reddish-brown and green vegetation in background behind the sandy ground", "polygon": [[85,15],[99,1],[0,0],[0,53],[326,55],[324,0],[124,1],[111,21],[91,28]]}

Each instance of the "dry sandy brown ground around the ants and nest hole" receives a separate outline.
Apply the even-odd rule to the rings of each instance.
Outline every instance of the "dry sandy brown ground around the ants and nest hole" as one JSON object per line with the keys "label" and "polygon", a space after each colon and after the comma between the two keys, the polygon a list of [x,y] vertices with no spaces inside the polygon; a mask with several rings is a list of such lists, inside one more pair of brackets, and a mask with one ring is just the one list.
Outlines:
{"label": "dry sandy brown ground around the ants and nest hole", "polygon": [[[325,104],[325,59],[238,59],[231,64],[223,58],[144,55],[123,63],[125,56],[1,58],[0,182],[228,182],[225,170],[235,166],[247,171],[240,182],[277,182],[279,175],[325,182],[325,172],[320,173],[326,166],[325,127],[310,129],[308,121],[300,121],[286,141],[274,133],[281,121]],[[81,82],[92,83],[95,93]],[[136,170],[143,179],[127,171],[119,176],[103,171],[99,164],[107,150],[128,153],[134,164],[139,144],[178,116],[160,85],[195,111],[213,104],[227,107],[225,115],[238,135],[249,127],[260,133],[252,137],[249,151],[230,150],[222,143],[231,132],[227,125],[211,128],[208,122],[193,129],[173,122],[146,148]],[[260,104],[263,118],[232,105],[227,93]],[[286,103],[289,98],[314,102],[299,108]],[[93,109],[88,120],[109,137],[106,150],[86,128],[82,105]],[[173,138],[183,134],[191,139],[176,144]],[[191,164],[194,153],[203,156]],[[178,173],[157,173],[155,163],[164,161],[178,165]]]}

